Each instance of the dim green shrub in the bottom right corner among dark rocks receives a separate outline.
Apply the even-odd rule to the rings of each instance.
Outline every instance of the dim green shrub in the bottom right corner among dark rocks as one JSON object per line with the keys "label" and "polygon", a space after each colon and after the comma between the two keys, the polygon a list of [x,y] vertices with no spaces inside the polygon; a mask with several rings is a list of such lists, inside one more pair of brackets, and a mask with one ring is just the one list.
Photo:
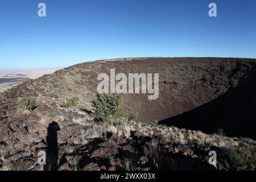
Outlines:
{"label": "dim green shrub in the bottom right corner among dark rocks", "polygon": [[230,162],[240,170],[256,168],[256,152],[249,147],[241,147],[228,152]]}

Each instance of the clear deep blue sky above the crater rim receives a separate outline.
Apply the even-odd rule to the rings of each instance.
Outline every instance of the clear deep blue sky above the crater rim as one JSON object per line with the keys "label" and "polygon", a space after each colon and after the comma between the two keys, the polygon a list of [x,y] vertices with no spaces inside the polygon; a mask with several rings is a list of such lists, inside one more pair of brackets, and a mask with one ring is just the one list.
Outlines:
{"label": "clear deep blue sky above the crater rim", "polygon": [[0,1],[0,69],[137,56],[256,58],[256,1]]}

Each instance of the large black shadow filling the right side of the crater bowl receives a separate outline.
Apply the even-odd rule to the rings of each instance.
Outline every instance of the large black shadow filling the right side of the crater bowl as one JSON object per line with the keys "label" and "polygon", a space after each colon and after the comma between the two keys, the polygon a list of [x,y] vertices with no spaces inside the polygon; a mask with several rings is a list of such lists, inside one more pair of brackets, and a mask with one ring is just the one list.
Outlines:
{"label": "large black shadow filling the right side of the crater bowl", "polygon": [[230,77],[236,77],[235,73],[241,69],[246,69],[246,72],[236,87],[229,88],[207,104],[159,123],[204,133],[216,133],[222,129],[229,137],[256,139],[256,64],[251,63],[251,66],[248,68],[237,63]]}

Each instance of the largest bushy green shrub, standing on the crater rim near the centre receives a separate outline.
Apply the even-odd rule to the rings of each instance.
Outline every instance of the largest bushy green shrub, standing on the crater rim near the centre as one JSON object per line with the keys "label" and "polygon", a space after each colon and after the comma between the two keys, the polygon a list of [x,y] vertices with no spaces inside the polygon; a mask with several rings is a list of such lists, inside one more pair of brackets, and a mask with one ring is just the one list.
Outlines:
{"label": "largest bushy green shrub, standing on the crater rim near the centre", "polygon": [[101,118],[102,122],[123,125],[123,110],[121,109],[121,98],[114,94],[97,94],[96,100],[92,101],[95,113]]}

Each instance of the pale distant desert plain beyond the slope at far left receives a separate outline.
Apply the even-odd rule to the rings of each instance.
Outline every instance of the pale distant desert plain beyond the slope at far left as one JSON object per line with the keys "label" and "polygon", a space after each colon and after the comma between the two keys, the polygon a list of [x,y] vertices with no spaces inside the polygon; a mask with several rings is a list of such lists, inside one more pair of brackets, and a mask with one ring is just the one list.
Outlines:
{"label": "pale distant desert plain beyond the slope at far left", "polygon": [[22,71],[0,71],[0,93],[5,92],[13,86],[21,84],[24,81],[51,74],[56,70],[57,69],[30,69]]}

